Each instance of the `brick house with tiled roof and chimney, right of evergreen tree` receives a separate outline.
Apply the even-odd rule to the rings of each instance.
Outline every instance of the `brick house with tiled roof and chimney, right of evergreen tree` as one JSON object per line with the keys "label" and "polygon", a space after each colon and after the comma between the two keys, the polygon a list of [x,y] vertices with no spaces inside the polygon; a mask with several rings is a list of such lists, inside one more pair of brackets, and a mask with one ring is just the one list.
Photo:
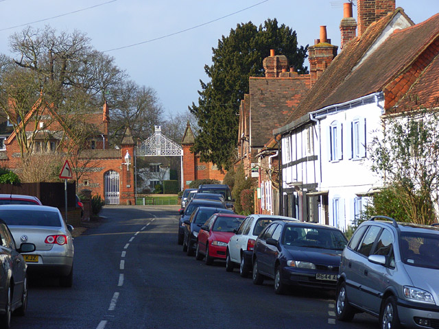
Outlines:
{"label": "brick house with tiled roof and chimney, right of evergreen tree", "polygon": [[278,168],[273,166],[277,140],[272,138],[272,130],[281,127],[294,112],[311,88],[311,79],[310,75],[298,75],[288,66],[286,56],[276,56],[274,50],[263,60],[263,68],[265,77],[250,77],[249,94],[239,107],[235,167],[243,164],[246,176],[258,179],[261,194],[255,212],[273,214],[278,211],[278,189],[273,185]]}

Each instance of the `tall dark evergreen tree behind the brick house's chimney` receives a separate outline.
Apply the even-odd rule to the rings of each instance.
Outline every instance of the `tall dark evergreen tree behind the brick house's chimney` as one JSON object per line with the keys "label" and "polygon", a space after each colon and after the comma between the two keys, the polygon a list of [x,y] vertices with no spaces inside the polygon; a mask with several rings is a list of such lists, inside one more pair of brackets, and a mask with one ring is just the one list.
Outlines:
{"label": "tall dark evergreen tree behind the brick house's chimney", "polygon": [[202,161],[211,161],[228,169],[237,143],[239,102],[248,93],[248,78],[264,75],[262,62],[270,49],[285,55],[298,73],[307,73],[303,66],[306,48],[298,47],[296,32],[276,19],[265,21],[259,28],[253,23],[238,24],[229,36],[218,40],[213,48],[211,66],[204,71],[210,82],[200,80],[198,106],[192,103],[191,113],[198,119],[200,131],[193,151]]}

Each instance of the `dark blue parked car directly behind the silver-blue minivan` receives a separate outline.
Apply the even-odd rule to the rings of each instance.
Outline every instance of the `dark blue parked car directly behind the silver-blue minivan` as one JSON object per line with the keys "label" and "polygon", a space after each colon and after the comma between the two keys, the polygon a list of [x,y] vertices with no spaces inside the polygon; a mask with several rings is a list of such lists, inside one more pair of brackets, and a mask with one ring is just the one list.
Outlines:
{"label": "dark blue parked car directly behind the silver-blue minivan", "polygon": [[287,285],[335,289],[340,255],[348,241],[333,226],[300,221],[273,221],[258,236],[253,250],[253,283],[274,279],[274,291]]}

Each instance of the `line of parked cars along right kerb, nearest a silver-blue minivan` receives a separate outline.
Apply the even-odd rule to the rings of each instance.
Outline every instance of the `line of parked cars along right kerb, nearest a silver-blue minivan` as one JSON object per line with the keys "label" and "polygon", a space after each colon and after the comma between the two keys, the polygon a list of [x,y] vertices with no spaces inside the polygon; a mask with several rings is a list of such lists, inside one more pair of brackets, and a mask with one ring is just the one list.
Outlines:
{"label": "line of parked cars along right kerb, nearest a silver-blue minivan", "polygon": [[226,271],[252,272],[254,284],[271,278],[276,293],[292,285],[335,290],[340,321],[366,312],[380,328],[439,328],[439,226],[373,217],[348,242],[331,226],[218,208],[206,219],[207,209],[195,208],[183,224],[183,248],[197,260],[226,260]]}

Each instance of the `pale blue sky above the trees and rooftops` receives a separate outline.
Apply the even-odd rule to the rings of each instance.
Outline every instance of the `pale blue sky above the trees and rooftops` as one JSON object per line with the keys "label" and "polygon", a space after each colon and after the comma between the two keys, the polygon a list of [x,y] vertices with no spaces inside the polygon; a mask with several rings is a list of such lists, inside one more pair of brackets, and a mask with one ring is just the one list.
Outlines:
{"label": "pale blue sky above the trees and rooftops", "polygon": [[[208,82],[212,48],[239,23],[259,26],[276,18],[297,33],[298,45],[313,45],[320,25],[340,47],[342,3],[332,0],[0,0],[0,53],[11,56],[8,38],[27,25],[85,32],[91,45],[140,86],[156,90],[165,118],[198,102],[200,80]],[[355,2],[355,1],[354,1]],[[439,0],[396,0],[420,23],[439,12]],[[357,17],[357,7],[354,9]],[[267,54],[269,56],[269,54]],[[307,64],[309,67],[309,64]]]}

